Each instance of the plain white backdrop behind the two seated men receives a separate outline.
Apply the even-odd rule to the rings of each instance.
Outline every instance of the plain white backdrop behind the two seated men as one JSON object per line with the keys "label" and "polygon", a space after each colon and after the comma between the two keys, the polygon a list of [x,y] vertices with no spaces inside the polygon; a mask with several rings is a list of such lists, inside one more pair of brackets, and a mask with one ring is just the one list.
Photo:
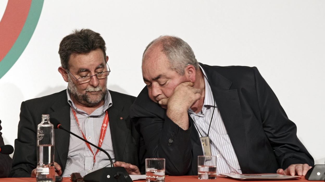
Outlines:
{"label": "plain white backdrop behind the two seated men", "polygon": [[[0,0],[0,17],[6,2]],[[188,42],[201,63],[256,66],[315,163],[324,163],[325,1],[45,0],[28,46],[0,79],[6,144],[14,145],[17,138],[22,101],[67,87],[57,71],[59,43],[80,28],[106,41],[108,88],[133,96],[145,86],[142,52],[160,35]]]}

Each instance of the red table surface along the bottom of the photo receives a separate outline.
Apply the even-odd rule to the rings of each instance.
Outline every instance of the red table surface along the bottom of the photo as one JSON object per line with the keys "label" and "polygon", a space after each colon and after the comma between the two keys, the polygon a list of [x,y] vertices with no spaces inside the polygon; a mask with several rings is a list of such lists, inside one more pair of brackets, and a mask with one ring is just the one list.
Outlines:
{"label": "red table surface along the bottom of the photo", "polygon": [[[216,179],[198,179],[198,176],[166,176],[165,177],[165,182],[203,182],[203,181],[225,181],[225,182],[234,182],[234,181],[240,181],[236,179],[231,179],[225,176],[217,176]],[[35,182],[35,178],[31,177],[23,177],[23,178],[0,178],[0,182],[23,182],[23,181],[29,181],[29,182]],[[135,182],[143,182],[146,180],[136,180]],[[267,180],[270,181],[270,180]],[[296,181],[296,182],[303,182],[303,181],[308,181],[305,179],[305,176],[302,176],[301,179],[294,179],[294,180],[274,180],[274,181],[285,181],[285,182],[290,182],[290,181]],[[69,177],[64,177],[62,182],[70,182]],[[257,182],[257,181],[254,181]]]}

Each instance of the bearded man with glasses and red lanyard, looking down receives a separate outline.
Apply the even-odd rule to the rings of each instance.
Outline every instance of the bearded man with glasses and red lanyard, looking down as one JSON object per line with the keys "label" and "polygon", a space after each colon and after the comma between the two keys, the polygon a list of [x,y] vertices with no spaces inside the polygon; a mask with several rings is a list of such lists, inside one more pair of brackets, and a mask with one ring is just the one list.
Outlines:
{"label": "bearded man with glasses and red lanyard, looking down", "polygon": [[[98,144],[113,158],[114,166],[140,174],[139,134],[129,117],[135,97],[106,88],[110,68],[105,51],[103,38],[89,29],[76,30],[62,39],[58,71],[68,82],[68,89],[21,104],[10,176],[35,177],[36,133],[42,114],[49,114],[50,120],[55,118],[72,133]],[[78,172],[84,176],[109,167],[109,158],[96,151],[75,136],[55,130],[57,175],[68,177]]]}

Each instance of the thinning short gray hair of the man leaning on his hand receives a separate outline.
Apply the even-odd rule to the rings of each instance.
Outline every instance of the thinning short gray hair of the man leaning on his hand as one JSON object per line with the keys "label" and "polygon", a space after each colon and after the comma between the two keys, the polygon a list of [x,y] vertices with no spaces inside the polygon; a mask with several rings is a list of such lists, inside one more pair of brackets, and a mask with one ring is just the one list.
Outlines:
{"label": "thinning short gray hair of the man leaning on his hand", "polygon": [[179,37],[175,36],[159,36],[158,38],[151,41],[142,55],[142,61],[144,55],[150,46],[158,45],[162,48],[162,52],[166,55],[169,60],[170,68],[176,71],[179,75],[184,75],[185,68],[188,64],[199,69],[199,63],[195,59],[192,48]]}

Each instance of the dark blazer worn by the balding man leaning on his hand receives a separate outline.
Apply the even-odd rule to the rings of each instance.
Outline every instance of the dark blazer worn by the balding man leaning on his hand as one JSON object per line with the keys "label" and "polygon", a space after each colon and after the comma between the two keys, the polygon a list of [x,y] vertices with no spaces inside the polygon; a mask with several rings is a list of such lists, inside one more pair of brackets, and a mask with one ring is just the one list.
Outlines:
{"label": "dark blazer worn by the balding man leaning on his hand", "polygon": [[[201,66],[242,173],[275,173],[295,163],[314,165],[296,136],[296,125],[256,67]],[[189,129],[179,128],[165,109],[149,99],[146,87],[131,106],[130,116],[144,139],[141,147],[147,157],[165,158],[169,175],[197,175],[197,156],[203,152],[190,117]]]}

